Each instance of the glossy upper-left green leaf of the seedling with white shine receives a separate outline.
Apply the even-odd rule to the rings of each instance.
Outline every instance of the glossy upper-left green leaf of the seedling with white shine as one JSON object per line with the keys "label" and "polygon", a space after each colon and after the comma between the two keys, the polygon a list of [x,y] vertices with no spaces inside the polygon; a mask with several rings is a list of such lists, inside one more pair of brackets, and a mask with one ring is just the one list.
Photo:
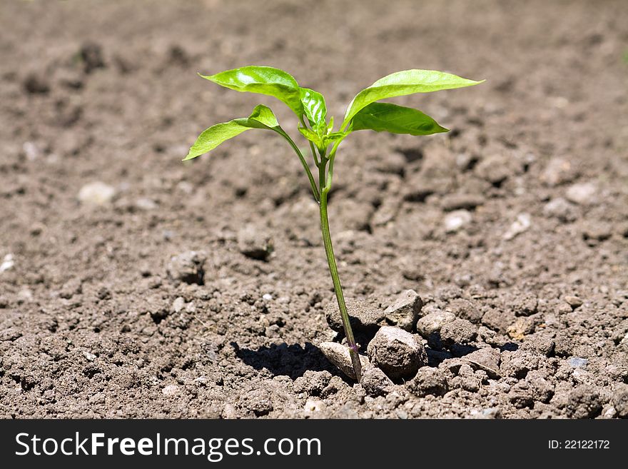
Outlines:
{"label": "glossy upper-left green leaf of the seedling with white shine", "polygon": [[258,93],[274,96],[283,101],[297,116],[303,115],[300,89],[288,72],[268,66],[244,66],[221,71],[216,75],[201,75],[206,80],[242,93]]}

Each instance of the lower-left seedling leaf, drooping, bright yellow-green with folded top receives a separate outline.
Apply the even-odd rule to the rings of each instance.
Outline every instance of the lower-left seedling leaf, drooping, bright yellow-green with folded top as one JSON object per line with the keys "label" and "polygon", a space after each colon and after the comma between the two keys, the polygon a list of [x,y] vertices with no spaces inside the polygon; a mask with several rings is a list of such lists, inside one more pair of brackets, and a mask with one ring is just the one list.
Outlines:
{"label": "lower-left seedling leaf, drooping, bright yellow-green with folded top", "polygon": [[201,156],[203,153],[207,153],[216,148],[223,143],[223,141],[238,136],[240,133],[248,131],[251,128],[263,128],[265,130],[281,133],[281,128],[273,111],[270,111],[268,107],[260,104],[255,106],[255,109],[253,109],[253,112],[248,117],[217,123],[215,126],[211,126],[206,131],[203,131],[203,133],[196,138],[196,142],[191,146],[190,151],[188,151],[188,156],[183,158],[183,161]]}

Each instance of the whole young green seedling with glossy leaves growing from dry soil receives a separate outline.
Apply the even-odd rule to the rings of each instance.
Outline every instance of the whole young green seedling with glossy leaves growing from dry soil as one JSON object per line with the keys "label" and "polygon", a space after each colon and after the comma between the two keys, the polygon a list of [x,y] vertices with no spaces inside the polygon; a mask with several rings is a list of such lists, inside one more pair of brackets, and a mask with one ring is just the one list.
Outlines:
{"label": "whole young green seedling with glossy leaves growing from dry soil", "polygon": [[373,130],[378,132],[408,133],[410,135],[430,135],[447,132],[434,119],[417,109],[396,104],[380,103],[382,99],[405,96],[415,93],[429,93],[443,89],[462,88],[482,83],[460,78],[442,71],[404,70],[385,76],[358,93],[345,113],[340,128],[334,131],[333,117],[328,120],[323,95],[308,88],[302,88],[290,74],[268,66],[245,66],[240,69],[223,71],[202,78],[236,91],[265,94],[283,101],[299,121],[300,133],[309,141],[313,163],[318,168],[318,183],[310,165],[292,138],[279,126],[275,114],[263,105],[255,106],[248,117],[217,123],[203,131],[191,146],[183,161],[191,160],[213,150],[218,145],[251,128],[260,128],[278,133],[288,141],[308,176],[315,201],[320,211],[320,230],[329,271],[334,286],[340,316],[343,319],[351,362],[355,376],[360,380],[361,365],[358,344],[355,343],[349,322],[343,288],[338,276],[327,216],[328,194],[331,189],[336,153],[340,143],[352,132]]}

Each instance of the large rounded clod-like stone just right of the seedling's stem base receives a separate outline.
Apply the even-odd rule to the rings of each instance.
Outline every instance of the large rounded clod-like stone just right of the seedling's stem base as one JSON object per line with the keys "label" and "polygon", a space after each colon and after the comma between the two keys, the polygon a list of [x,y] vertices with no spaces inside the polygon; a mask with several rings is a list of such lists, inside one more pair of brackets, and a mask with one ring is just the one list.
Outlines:
{"label": "large rounded clod-like stone just right of the seedling's stem base", "polygon": [[400,328],[383,326],[368,343],[368,356],[391,379],[409,378],[427,365],[423,344]]}

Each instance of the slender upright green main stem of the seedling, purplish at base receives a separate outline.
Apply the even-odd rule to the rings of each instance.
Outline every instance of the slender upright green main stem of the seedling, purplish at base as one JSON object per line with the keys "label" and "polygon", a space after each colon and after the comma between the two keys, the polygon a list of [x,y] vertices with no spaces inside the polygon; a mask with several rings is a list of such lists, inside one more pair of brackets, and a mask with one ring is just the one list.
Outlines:
{"label": "slender upright green main stem of the seedling, purplish at base", "polygon": [[333,282],[334,291],[336,293],[336,299],[338,300],[338,309],[340,310],[340,316],[343,318],[343,327],[345,328],[345,336],[349,344],[349,354],[351,356],[351,363],[353,363],[353,370],[355,371],[355,377],[360,381],[362,377],[362,365],[360,363],[360,357],[358,356],[358,345],[353,338],[353,330],[349,322],[349,313],[347,312],[347,306],[345,305],[345,296],[343,295],[343,287],[340,285],[340,277],[338,276],[338,266],[333,253],[333,246],[331,243],[331,236],[329,233],[329,220],[327,216],[327,196],[329,193],[329,186],[323,186],[325,181],[325,164],[321,164],[319,168],[319,180],[320,186],[320,231],[323,232],[323,245],[325,246],[325,254],[327,255],[327,263],[329,265],[329,272],[331,274],[331,280]]}

